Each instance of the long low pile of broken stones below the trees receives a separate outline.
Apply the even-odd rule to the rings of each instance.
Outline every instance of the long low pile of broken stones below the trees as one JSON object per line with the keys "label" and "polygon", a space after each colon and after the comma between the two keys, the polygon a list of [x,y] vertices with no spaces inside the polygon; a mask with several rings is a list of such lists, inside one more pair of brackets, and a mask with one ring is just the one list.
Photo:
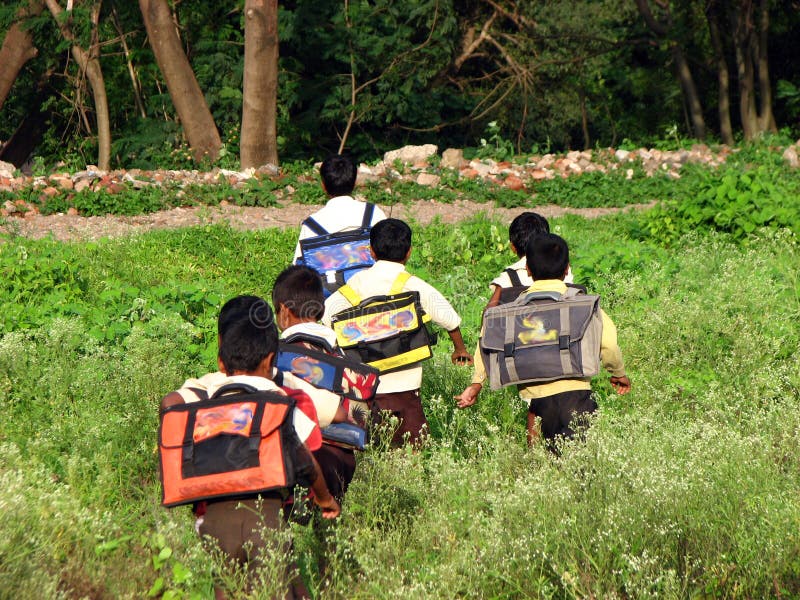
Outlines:
{"label": "long low pile of broken stones below the trees", "polygon": [[[632,178],[635,167],[641,168],[647,176],[663,173],[666,176],[678,178],[683,165],[700,163],[713,168],[722,164],[732,151],[725,146],[718,150],[712,150],[705,145],[696,145],[690,150],[674,151],[608,148],[531,156],[525,163],[518,163],[495,161],[490,158],[467,160],[464,158],[462,150],[454,148],[445,150],[440,156],[437,146],[427,144],[405,146],[387,152],[383,160],[376,165],[360,165],[358,182],[363,185],[368,181],[391,183],[404,180],[414,181],[423,186],[437,187],[441,182],[441,173],[443,170],[449,169],[457,172],[459,177],[464,179],[481,179],[512,190],[533,191],[536,183],[542,180],[579,176],[595,171],[608,173],[624,169],[626,177]],[[794,156],[796,159],[797,154]],[[227,183],[234,187],[240,187],[253,178],[276,178],[279,175],[277,167],[265,165],[258,169],[245,171],[130,169],[108,172],[88,166],[76,173],[26,176],[21,175],[13,165],[0,162],[0,191],[29,198],[32,190],[39,201],[44,202],[53,196],[71,195],[86,190],[116,194],[128,189],[141,189],[149,186],[182,188],[187,185]],[[284,198],[291,199],[292,192],[291,188],[287,188]],[[72,210],[74,211],[74,209]],[[0,207],[0,216],[22,216],[36,211],[35,203],[15,199],[6,201]]]}

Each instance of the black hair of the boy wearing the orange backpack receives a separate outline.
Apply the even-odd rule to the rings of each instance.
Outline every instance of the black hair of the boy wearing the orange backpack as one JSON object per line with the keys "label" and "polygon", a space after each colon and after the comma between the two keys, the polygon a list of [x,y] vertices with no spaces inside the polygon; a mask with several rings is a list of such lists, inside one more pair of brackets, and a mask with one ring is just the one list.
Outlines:
{"label": "black hair of the boy wearing the orange backpack", "polygon": [[219,353],[225,371],[255,371],[268,354],[278,350],[278,328],[267,301],[238,296],[220,311],[217,322]]}

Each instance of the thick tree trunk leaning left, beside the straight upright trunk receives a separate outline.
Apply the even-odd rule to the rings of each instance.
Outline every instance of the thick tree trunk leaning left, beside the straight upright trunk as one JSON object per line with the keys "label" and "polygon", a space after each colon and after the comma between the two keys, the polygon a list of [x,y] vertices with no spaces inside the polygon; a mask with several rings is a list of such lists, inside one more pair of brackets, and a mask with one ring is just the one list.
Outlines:
{"label": "thick tree trunk leaning left, beside the straight upright trunk", "polygon": [[150,47],[167,83],[169,96],[178,113],[195,161],[219,156],[222,140],[214,117],[183,51],[166,0],[139,0]]}

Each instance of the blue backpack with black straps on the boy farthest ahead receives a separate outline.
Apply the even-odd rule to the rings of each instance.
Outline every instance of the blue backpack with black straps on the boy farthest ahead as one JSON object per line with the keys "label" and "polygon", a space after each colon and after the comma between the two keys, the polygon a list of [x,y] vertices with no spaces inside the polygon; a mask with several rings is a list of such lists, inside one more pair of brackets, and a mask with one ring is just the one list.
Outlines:
{"label": "blue backpack with black straps on the boy farthest ahead", "polygon": [[313,217],[303,221],[303,225],[317,235],[300,240],[301,261],[320,274],[326,298],[347,283],[355,273],[375,263],[369,244],[374,212],[375,205],[367,203],[361,226],[337,233],[328,233]]}

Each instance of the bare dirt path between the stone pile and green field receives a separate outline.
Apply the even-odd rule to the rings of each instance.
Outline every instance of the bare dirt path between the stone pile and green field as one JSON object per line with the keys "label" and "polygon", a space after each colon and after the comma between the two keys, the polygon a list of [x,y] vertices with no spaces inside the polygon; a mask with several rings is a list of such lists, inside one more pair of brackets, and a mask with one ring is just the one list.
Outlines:
{"label": "bare dirt path between the stone pile and green field", "polygon": [[[29,215],[25,218],[7,219],[0,222],[0,232],[15,233],[25,237],[43,238],[49,235],[59,241],[97,240],[104,237],[135,235],[153,229],[191,227],[208,223],[227,222],[231,227],[241,230],[256,230],[268,227],[297,227],[306,216],[317,210],[319,205],[286,204],[275,208],[254,208],[239,206],[187,207],[173,208],[147,215],[134,217],[107,215],[104,217],[81,217],[77,215]],[[457,223],[476,214],[484,213],[503,222],[510,222],[524,210],[534,210],[545,217],[564,214],[577,214],[587,218],[598,217],[613,212],[617,208],[563,208],[560,206],[539,206],[525,208],[497,208],[491,204],[479,204],[459,200],[453,204],[443,204],[430,200],[420,200],[410,204],[381,207],[387,215],[426,224],[435,217],[445,223]],[[630,209],[643,208],[631,205]]]}

